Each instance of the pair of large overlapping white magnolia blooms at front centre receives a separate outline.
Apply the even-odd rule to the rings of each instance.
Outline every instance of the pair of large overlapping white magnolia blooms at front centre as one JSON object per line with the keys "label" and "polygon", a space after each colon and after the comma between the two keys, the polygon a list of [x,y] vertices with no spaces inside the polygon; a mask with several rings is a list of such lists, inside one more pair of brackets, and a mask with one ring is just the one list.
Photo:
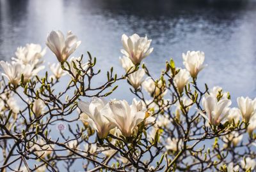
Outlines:
{"label": "pair of large overlapping white magnolia blooms at front centre", "polygon": [[106,138],[114,127],[120,129],[123,136],[132,136],[137,126],[150,118],[141,101],[136,99],[129,105],[125,100],[107,102],[103,98],[93,97],[90,103],[79,101],[78,107],[88,115],[86,121],[97,131],[99,138]]}

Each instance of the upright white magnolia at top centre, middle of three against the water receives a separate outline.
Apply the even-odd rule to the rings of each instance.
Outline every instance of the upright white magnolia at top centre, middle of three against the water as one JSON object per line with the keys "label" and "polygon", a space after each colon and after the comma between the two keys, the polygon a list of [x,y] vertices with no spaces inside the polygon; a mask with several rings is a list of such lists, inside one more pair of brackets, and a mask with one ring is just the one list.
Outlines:
{"label": "upright white magnolia at top centre, middle of three against the water", "polygon": [[150,47],[151,39],[148,40],[147,36],[145,38],[138,36],[138,34],[132,34],[132,36],[122,35],[122,43],[124,49],[121,50],[122,54],[129,57],[133,64],[139,64],[142,59],[147,57],[153,48]]}

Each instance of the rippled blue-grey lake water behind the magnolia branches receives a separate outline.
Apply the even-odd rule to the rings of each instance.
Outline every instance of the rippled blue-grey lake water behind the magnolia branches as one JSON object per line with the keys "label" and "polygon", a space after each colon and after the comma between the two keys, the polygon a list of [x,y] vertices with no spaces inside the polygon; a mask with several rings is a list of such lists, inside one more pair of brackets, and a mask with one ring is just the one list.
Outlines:
{"label": "rippled blue-grey lake water behind the magnolia branches", "polygon": [[[1,0],[0,4],[1,60],[10,60],[26,43],[45,46],[52,30],[71,30],[82,41],[74,55],[86,51],[95,55],[104,72],[101,80],[111,66],[124,73],[118,61],[121,36],[136,32],[152,39],[154,52],[145,64],[154,76],[170,57],[182,66],[182,52],[202,50],[209,64],[199,75],[202,85],[220,85],[234,101],[237,96],[255,97],[255,1]],[[45,59],[56,62],[50,50]],[[131,94],[120,94],[124,89],[112,97],[131,101]]]}

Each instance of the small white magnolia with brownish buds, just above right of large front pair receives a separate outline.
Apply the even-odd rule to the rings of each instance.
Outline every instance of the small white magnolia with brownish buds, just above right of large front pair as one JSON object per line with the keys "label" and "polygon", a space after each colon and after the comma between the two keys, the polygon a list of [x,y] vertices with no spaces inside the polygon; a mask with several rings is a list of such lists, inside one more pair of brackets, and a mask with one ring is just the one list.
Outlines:
{"label": "small white magnolia with brownish buds, just above right of large front pair", "polygon": [[[157,87],[156,87],[157,85]],[[152,96],[152,97],[163,97],[167,90],[164,87],[165,83],[162,80],[158,80],[157,83],[152,80],[152,78],[148,77],[142,83],[142,87]]]}

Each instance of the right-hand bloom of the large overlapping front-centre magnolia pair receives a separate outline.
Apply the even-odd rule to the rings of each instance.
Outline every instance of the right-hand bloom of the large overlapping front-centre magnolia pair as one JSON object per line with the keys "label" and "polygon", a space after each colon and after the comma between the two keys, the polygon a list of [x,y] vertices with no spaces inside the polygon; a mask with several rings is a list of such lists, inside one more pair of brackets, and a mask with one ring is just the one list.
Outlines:
{"label": "right-hand bloom of the large overlapping front-centre magnolia pair", "polygon": [[112,113],[106,117],[120,129],[123,136],[132,136],[136,126],[145,118],[146,111],[142,109],[142,103],[138,104],[136,99],[133,99],[131,106],[125,100],[113,100],[109,102],[109,107]]}

